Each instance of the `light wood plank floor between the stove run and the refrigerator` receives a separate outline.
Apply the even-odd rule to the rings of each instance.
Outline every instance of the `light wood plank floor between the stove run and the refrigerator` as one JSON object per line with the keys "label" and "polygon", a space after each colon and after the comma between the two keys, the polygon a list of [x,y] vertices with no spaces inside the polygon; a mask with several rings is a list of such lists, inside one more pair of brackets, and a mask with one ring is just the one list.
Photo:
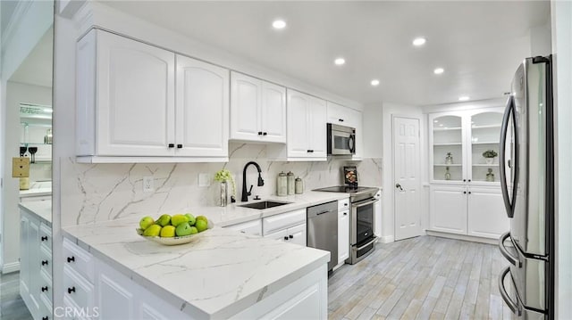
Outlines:
{"label": "light wood plank floor between the stove run and the refrigerator", "polygon": [[497,246],[420,236],[378,243],[328,280],[329,319],[509,319]]}

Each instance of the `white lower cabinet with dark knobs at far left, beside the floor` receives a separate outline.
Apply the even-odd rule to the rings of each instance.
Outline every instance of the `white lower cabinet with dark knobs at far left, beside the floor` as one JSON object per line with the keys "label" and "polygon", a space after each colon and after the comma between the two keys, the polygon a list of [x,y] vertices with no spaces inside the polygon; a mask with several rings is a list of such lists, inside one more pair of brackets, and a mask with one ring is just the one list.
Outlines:
{"label": "white lower cabinet with dark knobs at far left, beside the floor", "polygon": [[51,226],[21,210],[20,295],[34,319],[52,319]]}

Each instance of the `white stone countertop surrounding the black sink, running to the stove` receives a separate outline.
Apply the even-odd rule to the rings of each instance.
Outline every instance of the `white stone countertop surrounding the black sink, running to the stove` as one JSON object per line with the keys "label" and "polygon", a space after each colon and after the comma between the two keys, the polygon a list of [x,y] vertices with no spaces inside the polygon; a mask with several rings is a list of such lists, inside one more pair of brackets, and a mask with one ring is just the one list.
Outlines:
{"label": "white stone countertop surrounding the black sink, running to the stove", "polygon": [[[214,226],[232,226],[243,222],[256,220],[262,217],[271,217],[296,209],[305,209],[307,207],[312,207],[316,204],[321,204],[324,202],[347,199],[349,198],[349,193],[324,193],[308,191],[306,193],[295,194],[286,197],[268,196],[262,198],[262,200],[252,200],[252,198],[253,197],[250,197],[250,201],[248,202],[240,202],[239,200],[236,203],[229,203],[226,207],[190,207],[188,212],[192,213],[194,216],[203,215],[208,217],[211,221],[214,222]],[[282,201],[291,203],[280,207],[262,210],[240,207],[241,204],[259,201]],[[160,215],[161,213],[151,216],[157,218]]]}

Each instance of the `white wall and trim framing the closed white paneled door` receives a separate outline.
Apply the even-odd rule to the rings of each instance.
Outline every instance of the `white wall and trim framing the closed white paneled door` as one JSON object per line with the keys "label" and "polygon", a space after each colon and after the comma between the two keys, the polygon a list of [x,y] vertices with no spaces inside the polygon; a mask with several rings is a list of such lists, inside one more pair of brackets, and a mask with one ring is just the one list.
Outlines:
{"label": "white wall and trim framing the closed white paneled door", "polygon": [[[396,104],[396,103],[383,103],[383,221],[382,221],[382,241],[392,242],[395,239],[395,213],[393,208],[393,195],[395,191],[395,186],[393,185],[393,134],[392,134],[392,120],[393,116],[401,116],[419,119],[419,130],[422,136],[421,139],[421,176],[422,185],[426,182],[426,171],[427,171],[427,157],[426,157],[426,116],[420,107]],[[425,186],[422,187],[423,194],[421,195],[421,200],[423,203],[420,204],[419,208],[424,209],[420,212],[422,217],[422,227],[425,228],[426,220],[429,217],[429,211],[426,209],[428,206],[425,201],[427,201],[426,193],[428,192]]]}

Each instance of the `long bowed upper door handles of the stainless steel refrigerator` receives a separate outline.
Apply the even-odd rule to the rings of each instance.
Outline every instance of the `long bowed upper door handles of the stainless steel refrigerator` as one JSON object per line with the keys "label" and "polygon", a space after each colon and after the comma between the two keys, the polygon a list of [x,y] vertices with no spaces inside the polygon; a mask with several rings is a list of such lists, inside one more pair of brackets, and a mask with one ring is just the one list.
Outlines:
{"label": "long bowed upper door handles of the stainless steel refrigerator", "polygon": [[[514,136],[515,136],[515,159],[511,161],[511,164],[514,164],[515,167],[515,174],[513,177],[513,185],[512,185],[512,202],[509,198],[509,186],[507,185],[507,172],[505,168],[505,151],[506,151],[506,144],[507,144],[507,134],[509,132],[509,120],[510,114],[513,114],[513,123],[516,125],[516,114],[515,114],[515,101],[514,96],[509,96],[509,101],[507,101],[507,108],[504,111],[504,115],[502,116],[502,127],[501,127],[501,145],[499,150],[499,171],[501,174],[501,191],[502,191],[502,200],[504,201],[504,206],[507,209],[507,216],[514,217],[514,203],[515,197],[517,195],[517,126],[515,126]],[[512,167],[512,166],[511,166]]]}

